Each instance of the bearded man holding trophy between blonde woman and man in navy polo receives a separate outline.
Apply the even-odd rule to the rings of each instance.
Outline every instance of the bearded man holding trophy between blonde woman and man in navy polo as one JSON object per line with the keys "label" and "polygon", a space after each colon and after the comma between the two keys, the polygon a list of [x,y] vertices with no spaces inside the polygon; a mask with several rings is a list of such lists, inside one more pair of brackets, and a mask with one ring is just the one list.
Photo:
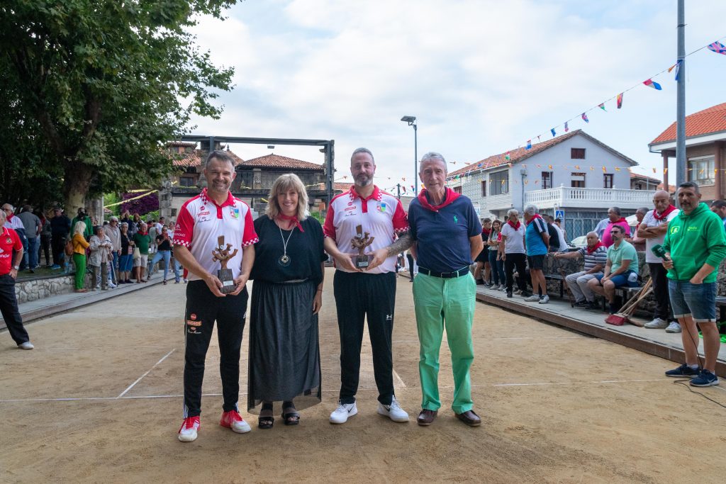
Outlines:
{"label": "bearded man holding trophy between blonde woman and man in navy polo", "polygon": [[396,234],[408,231],[401,202],[373,184],[375,160],[369,149],[359,148],[351,157],[355,185],[330,201],[323,234],[325,251],[335,258],[333,278],[335,306],[340,330],[340,401],[330,422],[342,424],[358,413],[356,392],[360,372],[360,351],[364,321],[373,348],[373,370],[378,387],[378,413],[394,422],[408,422],[393,395],[393,308],[396,302],[396,253],[372,261],[368,270],[356,268],[351,244],[356,227],[374,237],[367,253],[388,247]]}

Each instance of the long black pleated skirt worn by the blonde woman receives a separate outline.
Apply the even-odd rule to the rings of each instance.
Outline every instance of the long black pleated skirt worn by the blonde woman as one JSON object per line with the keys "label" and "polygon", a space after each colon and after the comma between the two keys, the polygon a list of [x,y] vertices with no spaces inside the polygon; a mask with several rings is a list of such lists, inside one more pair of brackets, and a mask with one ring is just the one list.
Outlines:
{"label": "long black pleated skirt worn by the blonde woman", "polygon": [[275,284],[255,280],[250,304],[250,362],[247,409],[259,414],[262,401],[295,401],[306,409],[321,401],[317,290],[312,281]]}

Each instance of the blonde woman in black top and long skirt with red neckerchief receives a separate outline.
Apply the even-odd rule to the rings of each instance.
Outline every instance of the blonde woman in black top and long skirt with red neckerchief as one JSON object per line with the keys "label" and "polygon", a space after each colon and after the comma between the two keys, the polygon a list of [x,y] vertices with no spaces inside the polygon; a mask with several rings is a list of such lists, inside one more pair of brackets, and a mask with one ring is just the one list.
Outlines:
{"label": "blonde woman in black top and long skirt with red neckerchief", "polygon": [[259,242],[250,275],[247,406],[259,412],[262,429],[274,424],[276,403],[285,425],[300,422],[297,409],[320,403],[317,313],[327,260],[322,226],[309,216],[298,176],[280,176],[268,200],[265,215],[255,221]]}

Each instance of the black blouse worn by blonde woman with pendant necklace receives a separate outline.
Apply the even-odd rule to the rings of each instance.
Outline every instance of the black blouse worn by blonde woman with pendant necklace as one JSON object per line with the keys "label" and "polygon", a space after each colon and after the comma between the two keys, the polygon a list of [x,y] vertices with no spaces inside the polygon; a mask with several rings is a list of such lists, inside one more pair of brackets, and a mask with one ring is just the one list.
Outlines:
{"label": "black blouse worn by blonde woman with pendant necklace", "polygon": [[[292,234],[289,230],[283,230],[280,235],[280,227],[268,216],[257,218],[255,231],[259,242],[255,244],[255,263],[250,279],[266,282],[311,279],[315,284],[322,281],[320,263],[327,261],[327,254],[322,246],[322,226],[312,217],[306,218],[300,224],[304,232],[295,226]],[[287,241],[287,257],[290,258],[288,266],[280,264],[280,258],[285,253],[282,237]]]}

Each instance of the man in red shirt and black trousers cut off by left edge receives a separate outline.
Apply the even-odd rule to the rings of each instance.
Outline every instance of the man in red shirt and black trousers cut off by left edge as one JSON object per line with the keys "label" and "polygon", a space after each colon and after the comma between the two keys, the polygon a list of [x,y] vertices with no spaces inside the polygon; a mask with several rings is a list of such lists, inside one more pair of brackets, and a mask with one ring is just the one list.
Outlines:
{"label": "man in red shirt and black trousers cut off by left edge", "polygon": [[[0,312],[10,337],[18,347],[32,350],[33,343],[30,343],[28,332],[23,327],[23,318],[20,317],[15,297],[15,278],[20,269],[20,261],[23,260],[23,242],[20,242],[15,230],[3,226],[6,218],[5,211],[0,211]],[[12,256],[13,250],[15,258]]]}

